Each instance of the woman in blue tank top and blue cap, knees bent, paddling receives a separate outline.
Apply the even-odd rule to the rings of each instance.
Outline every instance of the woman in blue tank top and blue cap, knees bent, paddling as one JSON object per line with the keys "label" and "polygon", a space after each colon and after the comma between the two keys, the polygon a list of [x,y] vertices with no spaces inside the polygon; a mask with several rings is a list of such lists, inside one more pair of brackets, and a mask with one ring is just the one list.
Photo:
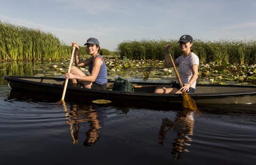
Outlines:
{"label": "woman in blue tank top and blue cap, knees bent, paddling", "polygon": [[76,66],[89,66],[91,75],[84,74],[76,66],[71,66],[70,73],[66,73],[66,79],[71,80],[71,85],[78,87],[83,84],[84,88],[107,90],[107,66],[105,60],[99,55],[100,42],[96,38],[89,38],[86,45],[88,53],[92,56],[86,60],[79,58],[79,46],[76,42],[72,42],[76,47],[75,65]]}

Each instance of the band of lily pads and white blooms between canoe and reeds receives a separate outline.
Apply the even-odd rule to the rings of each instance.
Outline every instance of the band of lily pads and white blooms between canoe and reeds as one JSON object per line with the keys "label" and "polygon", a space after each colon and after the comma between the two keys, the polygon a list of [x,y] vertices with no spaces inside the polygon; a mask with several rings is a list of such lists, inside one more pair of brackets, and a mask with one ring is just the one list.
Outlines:
{"label": "band of lily pads and white blooms between canoe and reeds", "polygon": [[[83,55],[88,58],[90,55]],[[103,56],[105,59],[108,79],[114,80],[118,76],[136,81],[177,81],[173,68],[165,68],[164,61],[160,60],[130,60],[117,56]],[[60,62],[33,62],[33,63],[0,63],[1,76],[65,76],[70,59]],[[90,74],[88,67],[78,67],[85,74]],[[198,67],[197,83],[201,84],[256,84],[256,65],[239,65],[229,63],[205,63]]]}

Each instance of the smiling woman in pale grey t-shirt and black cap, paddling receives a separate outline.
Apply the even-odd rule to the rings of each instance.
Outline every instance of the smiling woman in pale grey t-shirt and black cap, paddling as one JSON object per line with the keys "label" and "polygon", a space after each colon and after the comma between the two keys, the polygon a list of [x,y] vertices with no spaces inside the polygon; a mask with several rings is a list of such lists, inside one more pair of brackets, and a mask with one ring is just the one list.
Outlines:
{"label": "smiling woman in pale grey t-shirt and black cap, paddling", "polygon": [[[191,51],[191,47],[193,46],[193,38],[189,35],[183,35],[180,37],[178,43],[179,48],[182,51],[183,55],[175,59],[173,62],[175,66],[179,66],[178,72],[183,87],[180,88],[179,83],[166,86],[159,86],[155,89],[155,93],[181,94],[183,91],[187,93],[195,93],[196,79],[198,77],[199,58]],[[164,47],[165,67],[173,67],[169,59],[170,49],[170,45],[166,45]]]}

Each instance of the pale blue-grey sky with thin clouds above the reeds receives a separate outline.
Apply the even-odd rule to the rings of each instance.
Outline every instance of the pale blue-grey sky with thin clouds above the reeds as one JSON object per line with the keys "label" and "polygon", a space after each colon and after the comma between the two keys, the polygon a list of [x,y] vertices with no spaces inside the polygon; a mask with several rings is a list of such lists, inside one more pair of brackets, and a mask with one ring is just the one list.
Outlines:
{"label": "pale blue-grey sky with thin clouds above the reeds", "polygon": [[51,32],[67,45],[97,38],[115,51],[125,40],[244,40],[256,37],[255,0],[0,0],[0,21]]}

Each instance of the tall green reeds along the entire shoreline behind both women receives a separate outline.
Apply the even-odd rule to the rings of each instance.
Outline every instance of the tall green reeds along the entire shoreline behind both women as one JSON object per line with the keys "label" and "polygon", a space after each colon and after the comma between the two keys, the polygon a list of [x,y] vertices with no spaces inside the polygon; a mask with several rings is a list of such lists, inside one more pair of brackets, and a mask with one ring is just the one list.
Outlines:
{"label": "tall green reeds along the entire shoreline behind both women", "polygon": [[[181,55],[175,39],[125,40],[117,45],[116,51],[101,49],[101,55],[113,55],[131,60],[163,60],[164,46],[170,44],[173,58]],[[72,48],[50,32],[26,28],[21,25],[0,21],[0,59],[6,61],[37,61],[68,59]],[[230,64],[256,64],[256,40],[203,41],[195,39],[193,52],[201,62]],[[81,55],[88,55],[81,47]],[[1,62],[0,61],[0,62]]]}

